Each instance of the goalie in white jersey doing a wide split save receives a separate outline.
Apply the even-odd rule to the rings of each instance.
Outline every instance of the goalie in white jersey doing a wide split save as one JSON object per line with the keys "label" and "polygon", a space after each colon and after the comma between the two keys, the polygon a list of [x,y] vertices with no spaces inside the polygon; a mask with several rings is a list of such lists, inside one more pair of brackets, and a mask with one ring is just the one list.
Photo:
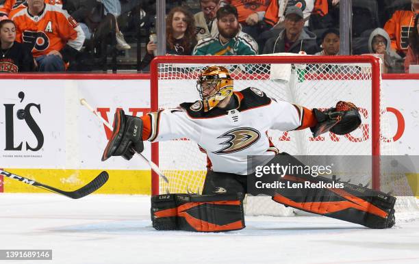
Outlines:
{"label": "goalie in white jersey doing a wide split save", "polygon": [[[310,129],[316,137],[331,131],[351,133],[361,124],[353,103],[338,102],[329,109],[307,109],[269,98],[257,88],[233,90],[233,79],[222,66],[205,68],[196,81],[200,101],[181,103],[142,117],[116,111],[114,130],[102,160],[112,156],[131,159],[141,153],[143,141],[188,138],[207,154],[202,194],[164,194],[151,197],[151,219],[157,230],[216,232],[244,228],[243,198],[248,193],[248,157],[264,155],[270,163],[303,165],[280,153],[270,142],[268,129]],[[331,183],[326,177],[287,174],[280,181]],[[366,187],[342,183],[342,188],[275,189],[272,200],[311,213],[368,226],[394,225],[396,198]]]}

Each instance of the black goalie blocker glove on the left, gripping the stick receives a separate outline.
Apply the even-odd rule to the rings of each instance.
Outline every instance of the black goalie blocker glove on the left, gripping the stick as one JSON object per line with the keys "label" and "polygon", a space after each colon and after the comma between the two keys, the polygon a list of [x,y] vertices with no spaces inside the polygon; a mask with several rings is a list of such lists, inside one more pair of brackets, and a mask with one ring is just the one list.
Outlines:
{"label": "black goalie blocker glove on the left, gripping the stick", "polygon": [[134,153],[142,153],[142,120],[135,116],[126,116],[123,109],[117,109],[114,116],[112,137],[103,151],[102,161],[111,156],[131,159]]}

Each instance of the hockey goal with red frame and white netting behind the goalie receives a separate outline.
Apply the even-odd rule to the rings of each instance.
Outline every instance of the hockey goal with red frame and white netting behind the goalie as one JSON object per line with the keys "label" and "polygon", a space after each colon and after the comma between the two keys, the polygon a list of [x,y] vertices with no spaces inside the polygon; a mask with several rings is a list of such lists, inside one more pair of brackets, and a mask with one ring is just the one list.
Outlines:
{"label": "hockey goal with red frame and white netting behind the goalie", "polygon": [[[396,155],[394,128],[391,128],[380,90],[379,60],[370,56],[172,56],[157,57],[151,64],[151,107],[177,107],[199,100],[196,79],[203,68],[225,66],[234,79],[235,90],[254,87],[268,96],[307,108],[329,108],[338,101],[350,101],[359,107],[362,124],[350,135],[333,133],[313,138],[305,131],[268,131],[281,152],[291,155]],[[152,159],[169,179],[166,184],[153,174],[153,194],[200,193],[206,173],[207,157],[195,142],[187,139],[152,145]],[[409,215],[418,212],[405,177],[383,181],[380,168],[362,172],[355,184],[372,183],[383,192],[396,192],[397,211]],[[371,186],[371,185],[370,185]],[[395,190],[396,189],[396,190]],[[248,215],[294,215],[294,210],[270,200],[270,197],[246,198]]]}

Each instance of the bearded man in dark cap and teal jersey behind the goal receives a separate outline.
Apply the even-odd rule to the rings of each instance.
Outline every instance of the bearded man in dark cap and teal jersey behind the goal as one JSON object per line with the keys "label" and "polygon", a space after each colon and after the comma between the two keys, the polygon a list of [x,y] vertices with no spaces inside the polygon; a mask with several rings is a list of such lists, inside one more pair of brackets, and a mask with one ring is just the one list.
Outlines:
{"label": "bearded man in dark cap and teal jersey behind the goal", "polygon": [[218,34],[196,44],[193,55],[256,55],[257,43],[241,31],[238,12],[232,5],[217,11]]}

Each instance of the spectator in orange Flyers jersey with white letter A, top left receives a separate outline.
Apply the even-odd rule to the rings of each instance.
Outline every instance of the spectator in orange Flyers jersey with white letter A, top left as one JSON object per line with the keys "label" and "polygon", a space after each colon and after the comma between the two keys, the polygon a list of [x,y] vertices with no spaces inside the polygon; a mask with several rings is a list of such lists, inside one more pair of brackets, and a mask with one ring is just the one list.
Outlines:
{"label": "spectator in orange Flyers jersey with white letter A, top left", "polygon": [[55,5],[42,0],[27,0],[27,5],[12,17],[16,41],[31,45],[39,71],[63,72],[83,46],[83,30],[66,10]]}

